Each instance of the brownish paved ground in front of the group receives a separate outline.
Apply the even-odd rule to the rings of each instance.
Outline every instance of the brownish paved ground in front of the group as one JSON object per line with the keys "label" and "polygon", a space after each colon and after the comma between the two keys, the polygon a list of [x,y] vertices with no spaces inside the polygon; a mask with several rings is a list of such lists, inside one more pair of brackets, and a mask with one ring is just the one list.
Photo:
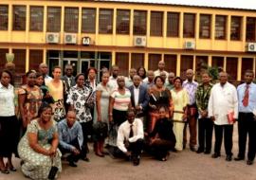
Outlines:
{"label": "brownish paved ground in front of the group", "polygon": [[[234,129],[233,153],[237,154],[237,130]],[[224,148],[222,148],[224,149]],[[217,159],[210,155],[192,153],[188,149],[182,153],[171,153],[168,161],[159,162],[150,156],[143,156],[138,167],[121,159],[104,158],[89,154],[91,162],[80,161],[78,168],[65,163],[60,180],[256,180],[256,163],[247,166],[246,161],[227,162],[225,153]],[[0,173],[0,180],[26,180],[15,159],[17,172],[8,175]]]}

